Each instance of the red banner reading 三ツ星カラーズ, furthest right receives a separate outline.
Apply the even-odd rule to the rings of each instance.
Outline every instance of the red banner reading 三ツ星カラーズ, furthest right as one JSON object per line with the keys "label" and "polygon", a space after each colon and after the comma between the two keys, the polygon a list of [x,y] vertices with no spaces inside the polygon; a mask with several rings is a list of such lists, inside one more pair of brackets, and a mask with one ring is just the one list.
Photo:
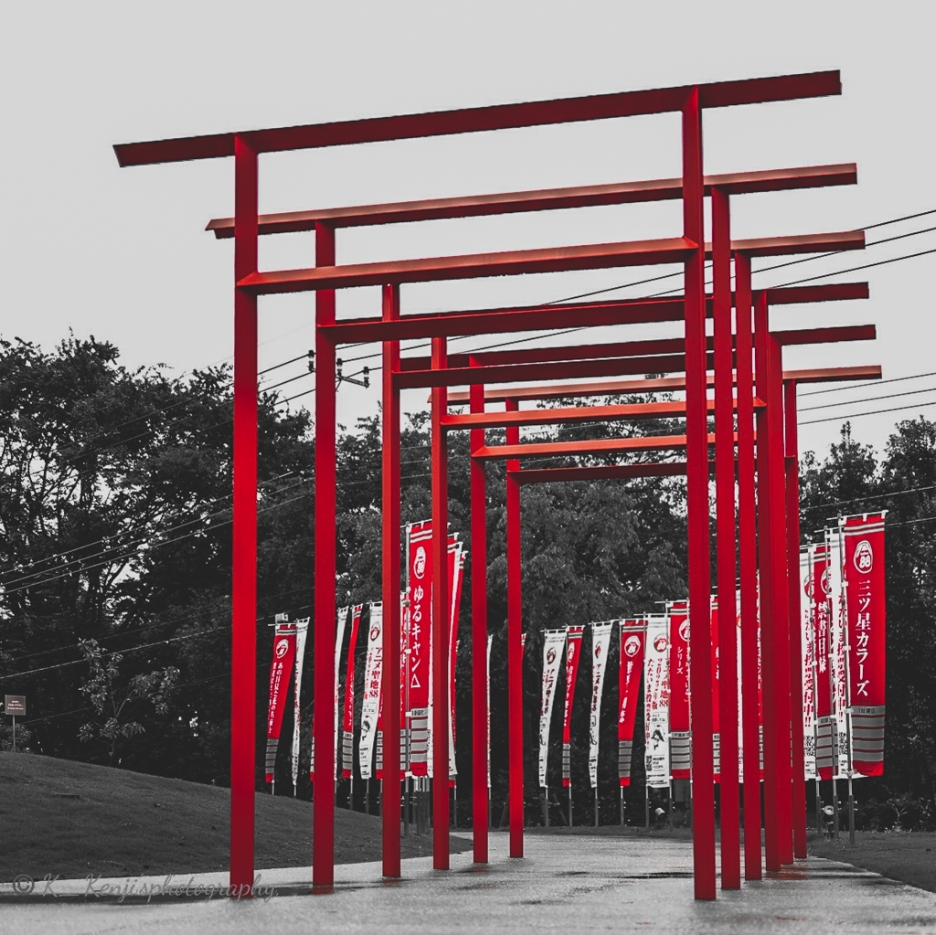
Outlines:
{"label": "red banner reading \u4e09\u30c4\u661f\u30ab\u30e9\u30fc\u30ba, furthest right", "polygon": [[884,513],[840,520],[845,540],[845,613],[852,771],[884,773]]}

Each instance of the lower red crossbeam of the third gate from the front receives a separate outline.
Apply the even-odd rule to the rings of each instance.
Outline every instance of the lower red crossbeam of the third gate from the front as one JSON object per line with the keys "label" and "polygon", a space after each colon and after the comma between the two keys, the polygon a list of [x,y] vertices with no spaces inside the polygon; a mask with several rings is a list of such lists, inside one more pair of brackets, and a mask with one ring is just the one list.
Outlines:
{"label": "lower red crossbeam of the third gate from the front", "polygon": [[[709,367],[712,366],[709,354]],[[419,387],[467,387],[472,383],[510,383],[519,380],[573,380],[584,376],[617,376],[622,373],[680,373],[685,354],[649,357],[560,360],[548,363],[504,364],[492,367],[450,367],[446,370],[416,370],[394,373],[399,389]]]}

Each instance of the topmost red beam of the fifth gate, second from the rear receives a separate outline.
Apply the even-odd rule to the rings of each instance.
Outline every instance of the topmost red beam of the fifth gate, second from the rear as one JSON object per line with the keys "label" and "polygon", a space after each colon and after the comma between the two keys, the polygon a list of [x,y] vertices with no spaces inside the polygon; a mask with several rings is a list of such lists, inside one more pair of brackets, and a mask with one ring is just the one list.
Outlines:
{"label": "topmost red beam of the fifth gate, second from the rear", "polygon": [[[846,341],[873,341],[877,337],[873,325],[847,325],[835,328],[807,328],[787,331],[772,331],[774,338],[782,344],[828,344]],[[706,339],[709,351],[713,350],[713,339]],[[685,341],[682,338],[658,338],[648,341],[619,341],[607,344],[574,344],[569,347],[534,347],[510,351],[478,351],[474,354],[449,354],[449,368],[465,368],[472,361],[484,366],[505,364],[546,363],[554,360],[596,360],[621,358],[647,354],[682,354]],[[431,358],[402,358],[400,371],[431,370]],[[476,381],[473,381],[476,382]]]}

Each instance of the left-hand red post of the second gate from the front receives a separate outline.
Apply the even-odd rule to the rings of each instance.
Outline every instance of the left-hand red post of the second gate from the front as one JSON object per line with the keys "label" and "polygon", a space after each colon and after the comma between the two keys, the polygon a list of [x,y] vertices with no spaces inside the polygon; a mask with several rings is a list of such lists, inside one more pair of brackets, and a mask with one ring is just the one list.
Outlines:
{"label": "left-hand red post of the second gate from the front", "polygon": [[[315,225],[315,264],[335,265],[335,232]],[[319,325],[335,321],[335,293],[315,293],[315,746],[312,883],[335,881],[335,345]],[[398,598],[399,600],[399,598]],[[386,713],[386,712],[385,712]]]}

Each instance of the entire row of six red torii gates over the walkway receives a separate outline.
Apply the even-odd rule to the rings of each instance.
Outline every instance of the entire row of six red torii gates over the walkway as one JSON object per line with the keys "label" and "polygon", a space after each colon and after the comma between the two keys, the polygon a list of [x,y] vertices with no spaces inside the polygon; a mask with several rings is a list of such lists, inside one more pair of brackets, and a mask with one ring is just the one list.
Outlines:
{"label": "entire row of six red torii gates over the walkway", "polygon": [[[711,634],[709,619],[709,474],[715,475],[716,584],[728,612],[719,614],[720,709],[722,746],[723,888],[741,884],[740,788],[744,796],[743,874],[759,879],[762,864],[780,869],[806,854],[806,805],[802,767],[802,721],[798,707],[799,588],[797,385],[834,380],[868,380],[878,367],[814,371],[782,370],[787,344],[869,340],[873,326],[774,330],[770,306],[863,299],[867,283],[812,285],[753,290],[751,261],[757,256],[814,254],[861,249],[861,231],[732,241],[730,198],[856,183],[854,165],[753,171],[704,176],[702,111],[768,101],[841,94],[837,71],[779,78],[728,81],[655,91],[508,104],[373,118],[345,123],[309,124],[242,133],[116,146],[122,166],[190,159],[234,157],[235,213],[212,221],[219,238],[234,239],[234,550],[231,697],[231,863],[230,883],[239,892],[254,882],[254,808],[256,787],[256,482],[257,482],[257,298],[283,292],[315,293],[315,559],[314,559],[314,784],[313,884],[333,884],[334,858],[334,644],[336,577],[336,350],[344,343],[381,343],[383,348],[383,604],[384,604],[384,762],[400,757],[400,393],[431,388],[431,560],[433,591],[434,729],[447,732],[446,437],[470,431],[471,533],[474,562],[472,593],[473,799],[474,857],[488,854],[487,763],[487,560],[485,555],[485,463],[505,460],[507,469],[508,563],[508,734],[509,853],[523,854],[523,755],[520,692],[520,486],[560,479],[642,475],[679,475],[687,479],[688,559],[696,898],[715,898],[716,839],[712,764]],[[576,123],[636,114],[675,112],[681,117],[682,177],[639,183],[442,198],[428,201],[339,208],[328,211],[259,215],[258,156],[261,153],[315,149],[358,143],[416,139],[545,124]],[[711,203],[711,243],[705,241],[704,201]],[[340,227],[537,212],[596,205],[680,199],[680,237],[519,250],[470,256],[441,256],[339,265],[335,238]],[[290,231],[315,234],[315,264],[303,270],[257,270],[260,235]],[[711,295],[704,269],[710,257]],[[441,314],[402,314],[400,286],[441,280],[592,270],[679,263],[684,268],[681,296],[665,299],[605,300],[489,309]],[[735,285],[732,289],[732,267]],[[382,287],[380,317],[338,319],[336,290],[362,285]],[[734,309],[734,322],[732,310]],[[713,319],[712,336],[706,322]],[[449,354],[447,339],[563,328],[600,328],[683,321],[678,339],[586,343],[530,350]],[[402,358],[400,343],[431,339],[431,356]],[[640,373],[683,373],[653,379],[568,381]],[[491,384],[532,386],[490,389]],[[448,387],[470,387],[450,393]],[[709,396],[713,389],[713,398]],[[521,410],[519,402],[586,398],[615,394],[684,391],[684,402],[638,402]],[[488,403],[504,402],[504,412]],[[449,411],[467,404],[469,412]],[[714,432],[709,433],[709,414]],[[685,433],[577,442],[521,444],[521,426],[559,423],[678,418]],[[505,444],[489,445],[485,430],[505,428]],[[714,460],[709,447],[714,446]],[[684,461],[661,461],[661,453],[684,451]],[[644,460],[634,460],[643,453]],[[625,463],[602,467],[521,469],[525,458],[620,456]],[[648,460],[649,459],[649,460]],[[737,517],[736,517],[737,494]],[[737,523],[737,525],[736,525]],[[734,626],[736,581],[740,580],[741,658],[736,658]],[[766,829],[761,847],[758,763],[757,588],[763,653],[763,717]],[[730,637],[730,638],[729,638]],[[742,674],[742,697],[738,679]],[[744,730],[744,760],[739,776],[737,723]],[[434,772],[447,775],[445,744],[433,749]],[[740,785],[739,780],[743,780]],[[385,780],[385,782],[387,782]],[[448,868],[448,792],[433,790],[433,866]],[[383,796],[383,872],[401,873],[401,796]],[[766,859],[764,859],[766,858]]]}

